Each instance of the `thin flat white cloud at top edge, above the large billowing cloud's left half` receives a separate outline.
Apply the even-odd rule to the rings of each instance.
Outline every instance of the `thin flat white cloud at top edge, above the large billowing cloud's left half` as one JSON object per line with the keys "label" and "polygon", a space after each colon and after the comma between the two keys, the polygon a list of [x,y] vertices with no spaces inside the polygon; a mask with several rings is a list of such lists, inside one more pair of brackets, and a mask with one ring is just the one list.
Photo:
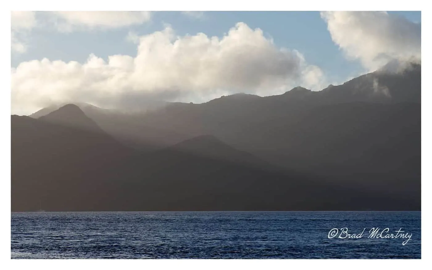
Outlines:
{"label": "thin flat white cloud at top edge, above the large billowing cloud's left half", "polygon": [[50,15],[60,32],[114,29],[140,25],[151,19],[149,11],[54,11]]}

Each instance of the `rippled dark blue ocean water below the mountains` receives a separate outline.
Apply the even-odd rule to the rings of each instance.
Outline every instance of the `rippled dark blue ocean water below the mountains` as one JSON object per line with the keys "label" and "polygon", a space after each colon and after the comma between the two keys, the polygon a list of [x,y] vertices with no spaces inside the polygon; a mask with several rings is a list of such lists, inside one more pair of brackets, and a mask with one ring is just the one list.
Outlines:
{"label": "rippled dark blue ocean water below the mountains", "polygon": [[[421,212],[12,213],[12,258],[420,258]],[[338,238],[341,228],[361,238]],[[408,238],[368,238],[372,228]],[[329,232],[338,228],[334,238]],[[401,232],[400,232],[401,233]],[[400,233],[398,233],[400,235]],[[342,233],[341,235],[346,236]],[[404,235],[407,236],[407,235]]]}

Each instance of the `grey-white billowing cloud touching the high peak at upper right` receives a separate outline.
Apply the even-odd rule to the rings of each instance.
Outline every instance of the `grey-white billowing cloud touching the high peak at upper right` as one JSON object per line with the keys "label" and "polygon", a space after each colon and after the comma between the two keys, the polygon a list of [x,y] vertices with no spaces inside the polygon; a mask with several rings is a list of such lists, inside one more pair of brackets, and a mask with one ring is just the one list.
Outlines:
{"label": "grey-white billowing cloud touching the high peak at upper right", "polygon": [[369,71],[421,58],[421,25],[386,12],[321,12],[333,41]]}

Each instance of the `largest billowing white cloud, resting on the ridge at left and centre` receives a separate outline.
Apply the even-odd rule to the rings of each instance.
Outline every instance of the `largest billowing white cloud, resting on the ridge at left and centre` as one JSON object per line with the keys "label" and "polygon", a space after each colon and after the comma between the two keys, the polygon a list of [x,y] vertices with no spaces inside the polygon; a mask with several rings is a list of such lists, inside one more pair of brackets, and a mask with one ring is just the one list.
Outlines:
{"label": "largest billowing white cloud, resting on the ridge at left and centre", "polygon": [[177,36],[167,26],[130,34],[137,55],[90,55],[78,62],[33,60],[12,69],[14,113],[52,102],[89,102],[131,108],[149,100],[203,102],[237,92],[273,95],[298,85],[318,86],[322,71],[298,51],[278,48],[260,29],[238,23],[222,38]]}

